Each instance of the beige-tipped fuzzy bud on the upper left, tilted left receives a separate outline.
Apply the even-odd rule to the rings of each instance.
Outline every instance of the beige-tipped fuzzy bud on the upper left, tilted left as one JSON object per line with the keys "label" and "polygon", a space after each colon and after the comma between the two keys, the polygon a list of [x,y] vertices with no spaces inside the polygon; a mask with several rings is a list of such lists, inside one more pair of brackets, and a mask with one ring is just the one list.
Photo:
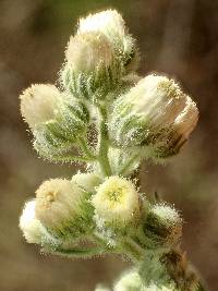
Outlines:
{"label": "beige-tipped fuzzy bud on the upper left, tilted left", "polygon": [[88,123],[85,106],[51,85],[26,89],[21,95],[21,111],[33,131],[35,148],[50,159],[70,149]]}

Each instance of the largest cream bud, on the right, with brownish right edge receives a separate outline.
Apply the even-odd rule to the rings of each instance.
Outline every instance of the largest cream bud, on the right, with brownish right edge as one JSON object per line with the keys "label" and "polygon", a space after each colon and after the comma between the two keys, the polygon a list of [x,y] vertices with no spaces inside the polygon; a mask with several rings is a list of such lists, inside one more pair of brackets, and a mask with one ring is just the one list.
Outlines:
{"label": "largest cream bud, on the right, with brownish right edge", "polygon": [[146,146],[161,158],[179,151],[197,119],[196,105],[173,80],[148,75],[114,101],[108,126],[116,145]]}

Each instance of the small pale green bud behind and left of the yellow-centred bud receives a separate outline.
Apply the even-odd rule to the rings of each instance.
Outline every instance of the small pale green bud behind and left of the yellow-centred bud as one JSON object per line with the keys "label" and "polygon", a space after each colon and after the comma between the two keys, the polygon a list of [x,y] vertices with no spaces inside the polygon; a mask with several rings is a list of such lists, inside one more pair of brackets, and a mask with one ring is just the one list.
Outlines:
{"label": "small pale green bud behind and left of the yellow-centred bud", "polygon": [[95,173],[76,173],[72,177],[72,183],[76,183],[80,187],[87,192],[95,193],[96,187],[101,183],[99,175]]}

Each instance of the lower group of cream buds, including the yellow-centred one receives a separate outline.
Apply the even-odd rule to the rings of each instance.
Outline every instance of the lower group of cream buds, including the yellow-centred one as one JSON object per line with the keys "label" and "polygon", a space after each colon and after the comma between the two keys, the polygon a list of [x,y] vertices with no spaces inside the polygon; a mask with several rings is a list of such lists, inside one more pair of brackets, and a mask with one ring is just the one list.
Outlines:
{"label": "lower group of cream buds, including the yellow-centred one", "polygon": [[126,244],[134,252],[130,242],[146,248],[175,245],[182,219],[172,207],[149,203],[125,178],[78,172],[71,180],[45,181],[26,203],[20,227],[27,242],[52,252],[80,247],[82,241],[108,252]]}

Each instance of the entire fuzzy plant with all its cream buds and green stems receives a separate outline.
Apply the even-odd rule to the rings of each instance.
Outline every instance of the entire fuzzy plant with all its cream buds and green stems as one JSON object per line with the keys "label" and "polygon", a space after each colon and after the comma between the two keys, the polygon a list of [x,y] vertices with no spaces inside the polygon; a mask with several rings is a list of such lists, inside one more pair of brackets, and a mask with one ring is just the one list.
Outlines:
{"label": "entire fuzzy plant with all its cream buds and green stems", "polygon": [[36,84],[21,94],[21,113],[38,154],[86,162],[87,172],[45,181],[26,203],[20,228],[44,252],[130,257],[138,268],[124,275],[116,291],[195,291],[196,278],[172,252],[182,218],[173,207],[150,202],[130,177],[143,159],[177,155],[198,110],[173,80],[138,76],[138,61],[123,19],[107,10],[80,20],[65,49],[60,88]]}

